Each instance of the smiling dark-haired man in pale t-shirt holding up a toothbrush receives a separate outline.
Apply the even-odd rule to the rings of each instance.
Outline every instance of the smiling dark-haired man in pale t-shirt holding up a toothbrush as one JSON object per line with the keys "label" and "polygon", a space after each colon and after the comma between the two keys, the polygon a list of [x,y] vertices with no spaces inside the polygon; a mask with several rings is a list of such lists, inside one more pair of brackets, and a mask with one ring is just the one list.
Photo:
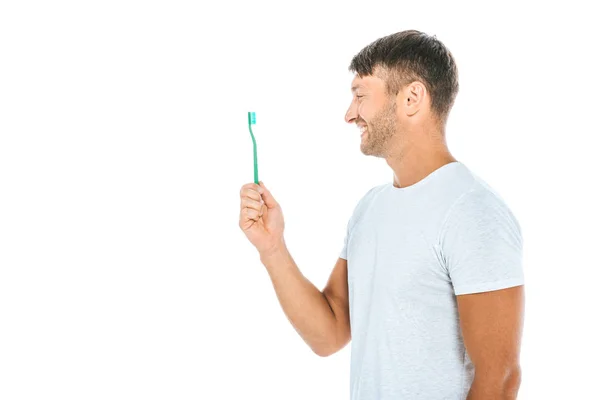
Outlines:
{"label": "smiling dark-haired man in pale t-shirt holding up a toothbrush", "polygon": [[240,228],[290,322],[320,356],[352,336],[352,399],[515,399],[521,380],[522,236],[512,212],[449,152],[451,53],[410,30],[350,64],[346,122],[393,182],[369,190],[323,291],[300,272],[265,187],[241,189]]}

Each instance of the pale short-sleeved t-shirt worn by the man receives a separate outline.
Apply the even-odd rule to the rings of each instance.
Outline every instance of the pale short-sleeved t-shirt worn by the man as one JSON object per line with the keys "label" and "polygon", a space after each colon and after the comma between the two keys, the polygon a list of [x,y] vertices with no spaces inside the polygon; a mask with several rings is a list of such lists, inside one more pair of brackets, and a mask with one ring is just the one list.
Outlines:
{"label": "pale short-sleeved t-shirt worn by the man", "polygon": [[464,400],[474,367],[456,295],[524,284],[523,239],[502,198],[452,162],[369,190],[348,222],[352,400]]}

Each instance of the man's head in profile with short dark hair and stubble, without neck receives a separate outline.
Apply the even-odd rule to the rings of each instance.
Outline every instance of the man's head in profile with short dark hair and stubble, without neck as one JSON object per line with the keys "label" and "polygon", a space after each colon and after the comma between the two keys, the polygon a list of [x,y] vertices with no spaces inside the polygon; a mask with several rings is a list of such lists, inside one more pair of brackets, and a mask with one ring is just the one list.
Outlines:
{"label": "man's head in profile with short dark hair and stubble, without neck", "polygon": [[408,30],[377,39],[354,56],[349,70],[356,75],[346,121],[366,128],[364,154],[386,157],[443,135],[458,70],[435,36]]}

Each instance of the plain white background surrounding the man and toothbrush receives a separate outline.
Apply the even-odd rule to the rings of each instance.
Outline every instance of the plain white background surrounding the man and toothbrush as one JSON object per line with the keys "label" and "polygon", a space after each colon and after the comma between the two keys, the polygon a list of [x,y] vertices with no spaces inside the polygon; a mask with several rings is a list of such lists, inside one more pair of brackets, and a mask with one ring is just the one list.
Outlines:
{"label": "plain white background surrounding the man and toothbrush", "polygon": [[457,61],[452,153],[524,233],[519,399],[600,396],[598,29],[585,2],[0,5],[0,398],[347,399],[238,227],[259,178],[320,289],[350,213],[389,182],[344,123],[373,40]]}

